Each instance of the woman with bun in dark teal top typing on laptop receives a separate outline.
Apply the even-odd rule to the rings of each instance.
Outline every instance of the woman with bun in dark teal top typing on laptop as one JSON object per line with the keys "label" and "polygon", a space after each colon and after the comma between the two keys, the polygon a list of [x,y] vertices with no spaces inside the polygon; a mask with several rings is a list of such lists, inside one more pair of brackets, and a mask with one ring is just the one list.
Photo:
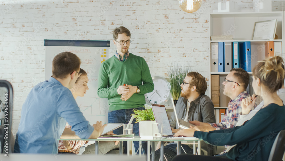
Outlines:
{"label": "woman with bun in dark teal top typing on laptop", "polygon": [[[273,142],[279,131],[285,129],[285,106],[276,91],[284,80],[283,60],[272,57],[259,61],[253,69],[253,90],[264,100],[264,106],[251,120],[234,128],[200,132],[192,128],[178,131],[174,136],[194,136],[216,146],[234,145],[226,155],[198,156],[179,155],[173,161],[184,160],[268,160]],[[242,100],[242,108],[251,109],[255,104],[255,95]]]}

